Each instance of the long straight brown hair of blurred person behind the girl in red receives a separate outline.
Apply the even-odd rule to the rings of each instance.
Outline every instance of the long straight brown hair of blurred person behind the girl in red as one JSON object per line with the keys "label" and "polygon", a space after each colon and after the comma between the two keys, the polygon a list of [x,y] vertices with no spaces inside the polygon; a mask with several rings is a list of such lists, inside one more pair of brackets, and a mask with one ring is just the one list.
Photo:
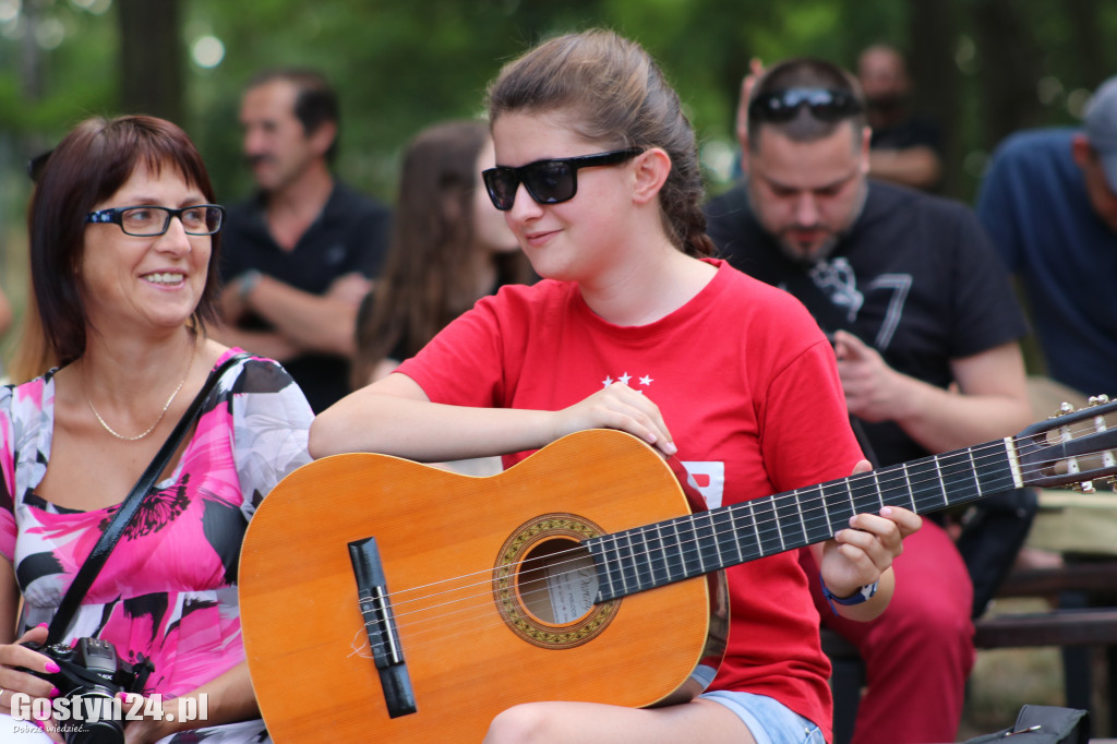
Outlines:
{"label": "long straight brown hair of blurred person behind the girl in red", "polygon": [[483,188],[477,158],[488,136],[484,122],[457,121],[428,127],[408,145],[391,248],[357,322],[354,388],[369,383],[379,362],[413,356],[472,307],[483,261],[495,263],[498,284],[534,277],[519,250],[476,249],[474,192]]}

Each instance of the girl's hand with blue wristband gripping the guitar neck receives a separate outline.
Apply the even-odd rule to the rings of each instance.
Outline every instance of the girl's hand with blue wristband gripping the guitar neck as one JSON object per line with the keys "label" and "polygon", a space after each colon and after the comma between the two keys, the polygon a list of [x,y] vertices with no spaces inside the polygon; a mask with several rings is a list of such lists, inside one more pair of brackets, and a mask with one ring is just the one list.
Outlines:
{"label": "girl's hand with blue wristband gripping the guitar neck", "polygon": [[[853,474],[871,468],[865,460]],[[892,595],[892,560],[904,552],[904,538],[923,525],[923,518],[909,509],[886,506],[877,514],[850,517],[848,530],[821,544],[819,566],[822,582],[834,597],[851,597],[861,586],[879,582],[872,599],[861,604],[836,604],[834,610],[853,620],[871,620],[880,614]]]}

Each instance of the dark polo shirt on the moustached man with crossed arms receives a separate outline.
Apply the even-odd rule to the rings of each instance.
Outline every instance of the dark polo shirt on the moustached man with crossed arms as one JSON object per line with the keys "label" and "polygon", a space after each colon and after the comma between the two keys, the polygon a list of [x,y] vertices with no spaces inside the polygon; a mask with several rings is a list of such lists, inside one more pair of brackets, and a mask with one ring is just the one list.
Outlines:
{"label": "dark polo shirt on the moustached man with crossed arms", "polygon": [[[354,189],[334,182],[322,213],[293,250],[283,250],[268,231],[262,194],[229,209],[221,228],[221,279],[231,282],[257,269],[303,292],[325,294],[335,279],[351,273],[373,278],[388,251],[391,212]],[[258,316],[241,327],[266,331]],[[249,350],[251,351],[251,350]],[[315,413],[350,390],[350,361],[332,354],[304,354],[284,368],[306,394]]]}

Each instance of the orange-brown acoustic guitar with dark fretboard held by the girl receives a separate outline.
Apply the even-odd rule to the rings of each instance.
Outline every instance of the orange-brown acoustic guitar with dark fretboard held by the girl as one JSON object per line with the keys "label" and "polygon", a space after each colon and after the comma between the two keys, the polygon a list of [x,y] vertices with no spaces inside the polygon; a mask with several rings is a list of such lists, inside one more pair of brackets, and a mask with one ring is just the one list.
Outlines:
{"label": "orange-brown acoustic guitar with dark fretboard held by the girl", "polygon": [[1115,410],[1102,400],[696,514],[659,455],[617,431],[571,435],[487,478],[381,455],[316,460],[264,499],[245,538],[241,623],[264,719],[277,744],[479,742],[518,703],[688,699],[720,659],[709,576],[885,505],[926,514],[1111,481]]}

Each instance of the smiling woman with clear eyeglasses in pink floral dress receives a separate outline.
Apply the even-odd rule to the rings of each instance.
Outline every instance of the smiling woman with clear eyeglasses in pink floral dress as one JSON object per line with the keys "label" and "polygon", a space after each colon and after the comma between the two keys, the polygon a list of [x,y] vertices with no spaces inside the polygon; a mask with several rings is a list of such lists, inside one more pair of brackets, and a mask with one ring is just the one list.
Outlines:
{"label": "smiling woman with clear eyeglasses in pink floral dress", "polygon": [[[42,741],[77,736],[82,722],[60,713],[73,706],[44,678],[59,665],[29,643],[45,641],[118,505],[235,353],[206,333],[223,214],[212,201],[193,143],[146,116],[83,122],[37,174],[32,299],[57,366],[0,388],[0,709],[18,716],[0,716],[3,741],[32,725]],[[143,699],[123,704],[130,744],[266,741],[237,561],[259,500],[307,461],[311,419],[278,364],[236,361],[89,586],[61,642],[101,639],[153,667]]]}

